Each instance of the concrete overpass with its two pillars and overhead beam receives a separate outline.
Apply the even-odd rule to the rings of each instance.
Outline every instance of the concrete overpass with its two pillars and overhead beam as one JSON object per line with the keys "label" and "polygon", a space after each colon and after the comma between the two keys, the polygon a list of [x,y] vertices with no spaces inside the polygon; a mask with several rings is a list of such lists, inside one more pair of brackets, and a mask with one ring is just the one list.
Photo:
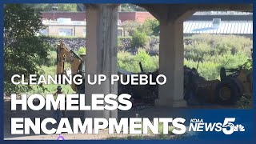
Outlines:
{"label": "concrete overpass with its two pillars and overhead beam", "polygon": [[[117,94],[110,74],[117,74],[118,4],[86,6],[86,74],[106,74],[102,85],[86,83],[86,105],[91,94]],[[183,22],[196,11],[252,11],[252,4],[138,4],[160,22],[159,74],[167,82],[159,86],[156,106],[184,107],[183,100]],[[118,111],[86,111],[88,118],[118,118]]]}

